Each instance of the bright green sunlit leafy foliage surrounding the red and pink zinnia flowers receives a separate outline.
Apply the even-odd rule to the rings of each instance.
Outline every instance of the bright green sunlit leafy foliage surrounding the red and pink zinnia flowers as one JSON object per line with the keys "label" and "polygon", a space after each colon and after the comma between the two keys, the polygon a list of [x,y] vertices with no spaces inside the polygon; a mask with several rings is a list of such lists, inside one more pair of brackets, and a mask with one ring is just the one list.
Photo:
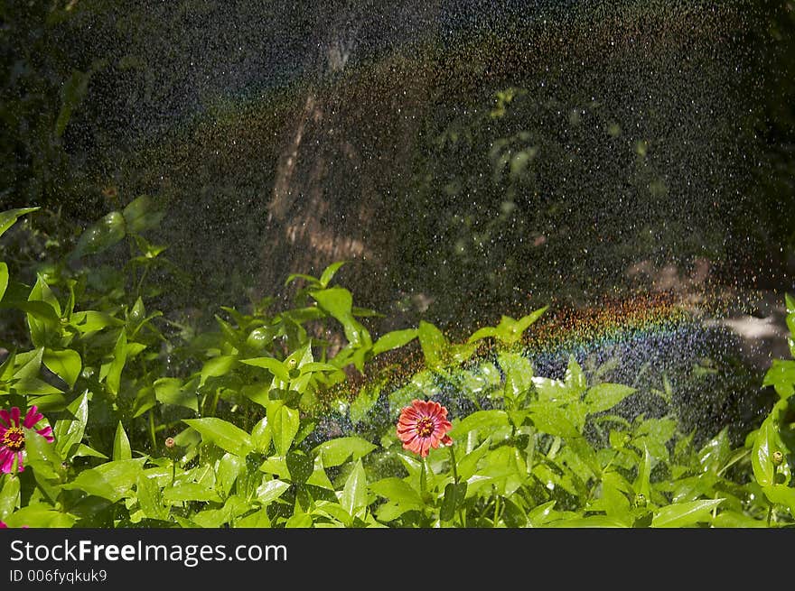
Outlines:
{"label": "bright green sunlit leafy foliage surrounding the red and pink zinnia flowers", "polygon": [[[0,214],[0,233],[33,211]],[[320,278],[287,279],[298,288],[294,308],[221,307],[212,328],[166,319],[147,309],[156,291],[146,282],[155,264],[169,268],[165,249],[142,235],[160,217],[140,197],[81,235],[72,258],[86,264],[127,241],[131,259],[118,273],[60,265],[26,285],[0,264],[0,306],[27,328],[4,343],[2,407],[37,405],[55,437],[27,430],[30,469],[0,476],[0,521],[11,527],[795,522],[793,360],[766,374],[779,402],[744,446],[724,429],[696,448],[673,415],[622,413],[631,397],[669,402],[665,376],[663,390],[644,392],[604,382],[604,367],[574,356],[562,377],[536,375],[519,346],[547,308],[503,316],[461,344],[424,321],[373,338],[364,320],[373,312],[332,286],[335,263]],[[792,330],[790,296],[786,305]],[[494,355],[474,356],[487,338]],[[374,369],[373,359],[408,346],[425,365],[402,383],[389,366]],[[367,377],[352,400],[351,369]],[[416,457],[397,439],[397,413],[444,392],[478,410],[451,404],[454,444]],[[333,412],[356,432],[321,429]]]}

